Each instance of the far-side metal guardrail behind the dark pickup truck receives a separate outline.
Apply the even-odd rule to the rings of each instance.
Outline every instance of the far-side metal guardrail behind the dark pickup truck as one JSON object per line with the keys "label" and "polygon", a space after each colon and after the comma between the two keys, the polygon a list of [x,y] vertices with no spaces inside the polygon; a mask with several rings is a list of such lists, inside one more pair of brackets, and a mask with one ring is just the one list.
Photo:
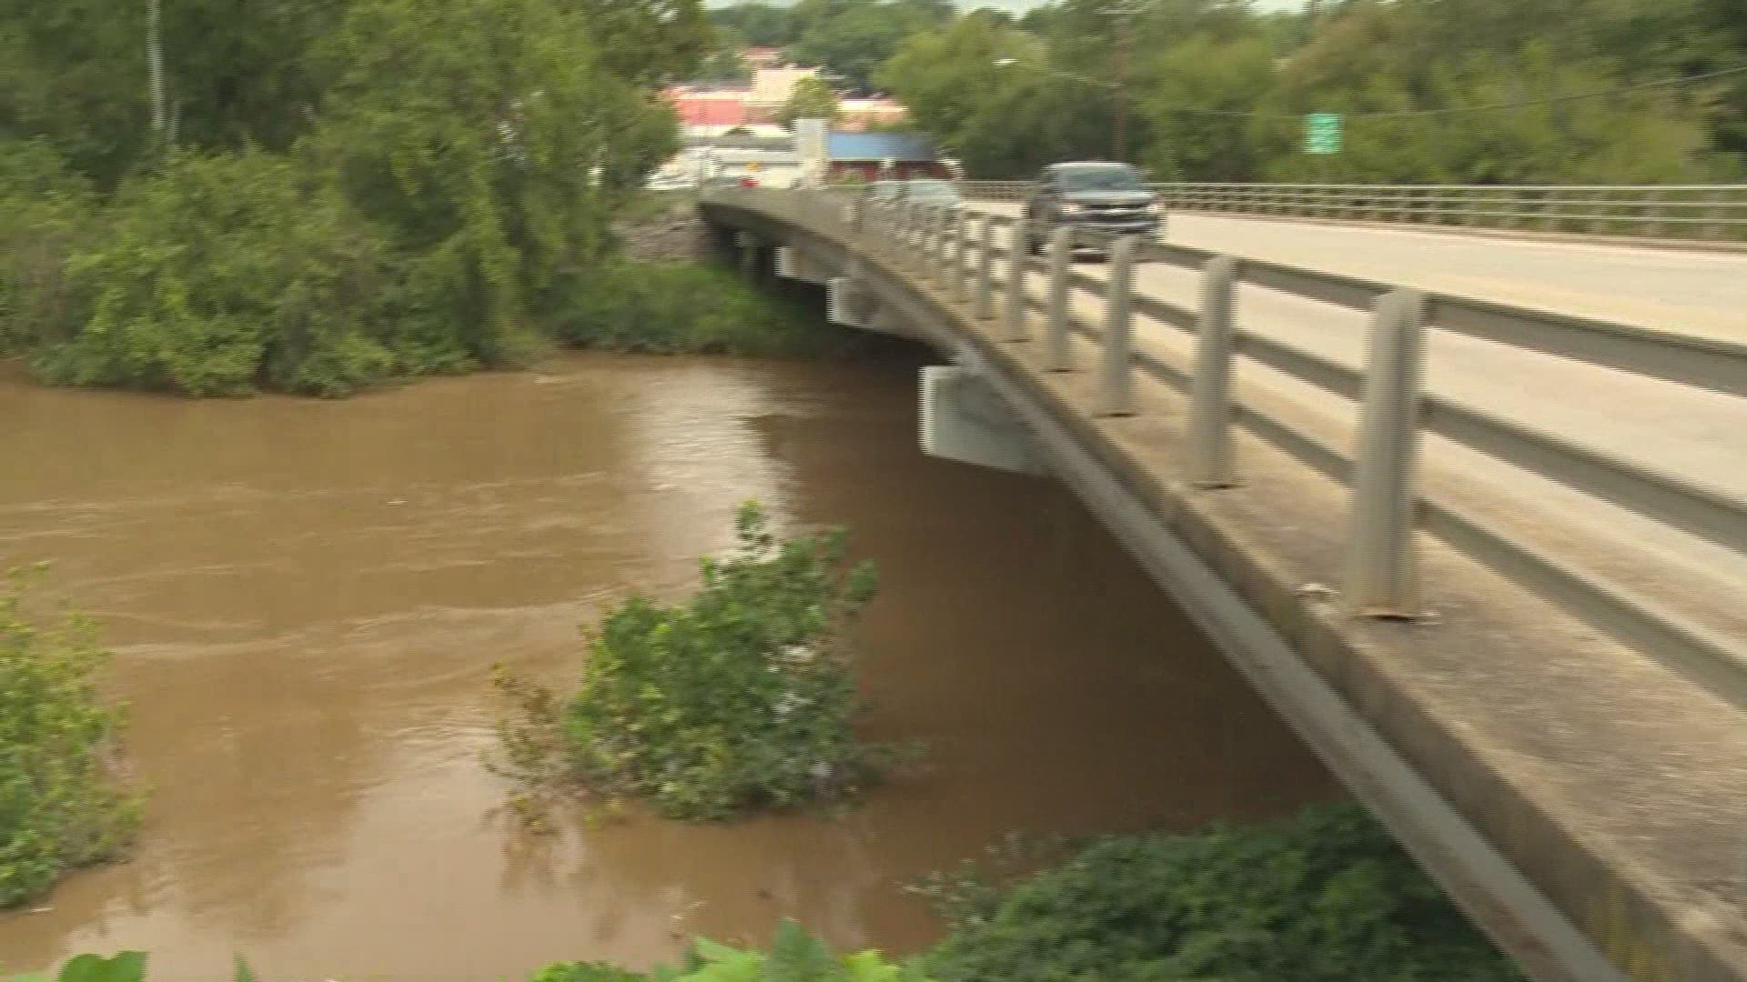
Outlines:
{"label": "far-side metal guardrail behind the dark pickup truck", "polygon": [[[1029,182],[966,180],[964,197],[1022,201]],[[1448,229],[1747,241],[1747,183],[1151,183],[1172,211],[1392,222]]]}

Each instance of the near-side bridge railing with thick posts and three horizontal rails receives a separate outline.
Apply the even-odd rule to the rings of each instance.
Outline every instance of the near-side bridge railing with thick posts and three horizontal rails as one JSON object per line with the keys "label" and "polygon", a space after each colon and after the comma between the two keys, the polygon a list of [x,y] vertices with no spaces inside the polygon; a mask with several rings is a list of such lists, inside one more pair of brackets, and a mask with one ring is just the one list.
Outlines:
{"label": "near-side bridge railing with thick posts and three horizontal rails", "polygon": [[[1653,601],[1536,552],[1494,519],[1426,498],[1417,477],[1419,442],[1433,433],[1747,554],[1747,501],[1686,475],[1541,432],[1485,405],[1424,391],[1420,384],[1427,327],[1733,395],[1747,395],[1747,346],[1134,239],[1113,243],[1108,276],[1097,280],[1066,260],[1071,252],[1067,229],[1052,234],[1043,257],[1031,255],[1024,218],[870,204],[853,196],[807,190],[728,189],[713,199],[774,215],[849,245],[910,280],[933,281],[949,301],[966,304],[970,316],[998,322],[1003,339],[1027,337],[1031,315],[1041,311],[1046,369],[1067,367],[1069,335],[1099,346],[1095,405],[1101,414],[1134,412],[1136,374],[1177,388],[1190,398],[1184,474],[1198,488],[1235,482],[1235,426],[1345,484],[1352,491],[1352,531],[1340,594],[1354,613],[1420,615],[1413,531],[1426,528],[1628,643],[1730,676],[1747,669],[1740,638],[1712,636]],[[1198,306],[1136,295],[1136,262],[1198,271]],[[1027,294],[1027,278],[1036,273],[1046,276],[1043,301]],[[1289,339],[1246,328],[1233,316],[1239,285],[1368,311],[1368,363],[1356,369]],[[1073,313],[1074,294],[1102,301],[1101,323],[1087,323]],[[1167,363],[1137,349],[1136,316],[1186,332],[1193,339],[1190,363]],[[1233,384],[1233,360],[1240,356],[1356,400],[1361,407],[1356,449],[1349,451],[1342,440],[1312,432],[1298,419],[1272,416],[1263,404],[1240,400]],[[1714,671],[1702,674],[1714,676]]]}

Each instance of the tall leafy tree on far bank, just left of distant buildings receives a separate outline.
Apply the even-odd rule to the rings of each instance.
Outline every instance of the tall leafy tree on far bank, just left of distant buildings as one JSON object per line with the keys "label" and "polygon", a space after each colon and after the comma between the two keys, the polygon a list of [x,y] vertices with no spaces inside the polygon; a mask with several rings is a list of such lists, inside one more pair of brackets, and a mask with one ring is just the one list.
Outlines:
{"label": "tall leafy tree on far bank, just left of distant buildings", "polygon": [[327,42],[316,159],[402,253],[404,344],[503,363],[599,259],[673,117],[547,0],[360,0]]}

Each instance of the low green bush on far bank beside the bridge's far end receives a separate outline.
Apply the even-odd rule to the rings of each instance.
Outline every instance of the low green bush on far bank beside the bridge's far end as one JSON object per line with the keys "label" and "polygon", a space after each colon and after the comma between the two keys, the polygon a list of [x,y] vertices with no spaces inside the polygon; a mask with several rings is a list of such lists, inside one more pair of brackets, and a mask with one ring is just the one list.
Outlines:
{"label": "low green bush on far bank beside the bridge's far end", "polygon": [[694,262],[603,264],[568,285],[554,316],[568,344],[653,355],[784,355],[835,337],[734,273]]}

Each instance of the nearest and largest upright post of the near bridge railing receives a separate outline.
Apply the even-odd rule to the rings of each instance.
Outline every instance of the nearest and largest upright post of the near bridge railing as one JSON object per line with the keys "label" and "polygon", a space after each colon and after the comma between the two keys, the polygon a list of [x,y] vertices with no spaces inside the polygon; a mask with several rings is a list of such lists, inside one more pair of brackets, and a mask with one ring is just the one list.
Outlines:
{"label": "nearest and largest upright post of the near bridge railing", "polygon": [[1377,299],[1364,365],[1359,461],[1352,482],[1345,606],[1361,617],[1419,617],[1413,550],[1419,510],[1420,379],[1426,295]]}

